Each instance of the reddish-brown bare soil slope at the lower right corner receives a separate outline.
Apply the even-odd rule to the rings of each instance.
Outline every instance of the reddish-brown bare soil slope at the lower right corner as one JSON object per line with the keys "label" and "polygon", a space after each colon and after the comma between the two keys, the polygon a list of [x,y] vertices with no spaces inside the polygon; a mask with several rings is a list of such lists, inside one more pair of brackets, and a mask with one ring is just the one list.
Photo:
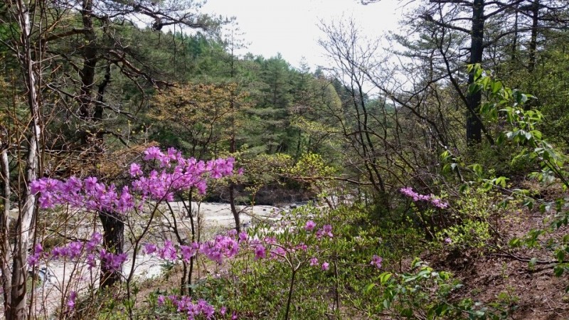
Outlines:
{"label": "reddish-brown bare soil slope at the lower right corner", "polygon": [[[551,195],[550,195],[551,196]],[[558,196],[558,195],[553,195]],[[504,293],[515,309],[511,319],[556,320],[569,319],[569,277],[555,277],[555,258],[546,249],[512,248],[507,244],[530,230],[545,228],[546,215],[536,210],[510,211],[496,218],[496,238],[482,250],[454,250],[426,253],[426,261],[439,270],[449,270],[462,280],[464,287],[457,299],[470,297],[489,303]],[[563,237],[568,228],[540,238]],[[529,267],[528,260],[536,257],[538,263]]]}

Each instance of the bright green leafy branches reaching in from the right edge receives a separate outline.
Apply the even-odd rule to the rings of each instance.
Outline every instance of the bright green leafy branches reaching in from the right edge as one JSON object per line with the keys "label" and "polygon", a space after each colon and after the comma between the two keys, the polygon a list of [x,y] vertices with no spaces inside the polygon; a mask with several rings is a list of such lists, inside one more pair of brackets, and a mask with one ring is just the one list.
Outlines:
{"label": "bright green leafy branches reaching in from the right edge", "polygon": [[[486,109],[492,117],[506,119],[509,128],[499,133],[499,139],[496,142],[501,145],[509,142],[517,146],[523,146],[523,150],[516,155],[516,158],[526,158],[538,166],[539,171],[533,171],[528,174],[531,178],[536,178],[546,186],[560,183],[563,191],[569,187],[569,173],[565,169],[568,157],[554,146],[546,142],[543,134],[536,127],[543,121],[543,116],[538,110],[526,110],[524,105],[532,96],[522,92],[511,90],[499,84],[489,75],[486,75],[478,65],[470,66],[469,70],[475,70],[478,75],[472,90],[484,90],[491,99],[491,107]],[[495,111],[491,111],[495,110]],[[497,110],[497,112],[496,112]],[[493,179],[482,179],[487,186],[506,187],[506,178],[499,177]],[[533,208],[533,198],[529,198],[531,194],[526,190],[514,190],[513,192],[523,199],[524,204],[528,208]],[[544,247],[550,250],[555,257],[553,272],[560,277],[569,271],[569,264],[565,260],[565,255],[569,252],[569,235],[556,234],[563,226],[569,223],[569,214],[564,198],[558,198],[548,203],[540,201],[540,210],[542,213],[550,210],[551,216],[547,220],[548,228],[535,229],[528,232],[521,238],[514,238],[509,241],[512,247],[525,245],[526,247]],[[553,209],[553,210],[552,210]],[[535,258],[529,261],[530,267],[536,265]]]}

